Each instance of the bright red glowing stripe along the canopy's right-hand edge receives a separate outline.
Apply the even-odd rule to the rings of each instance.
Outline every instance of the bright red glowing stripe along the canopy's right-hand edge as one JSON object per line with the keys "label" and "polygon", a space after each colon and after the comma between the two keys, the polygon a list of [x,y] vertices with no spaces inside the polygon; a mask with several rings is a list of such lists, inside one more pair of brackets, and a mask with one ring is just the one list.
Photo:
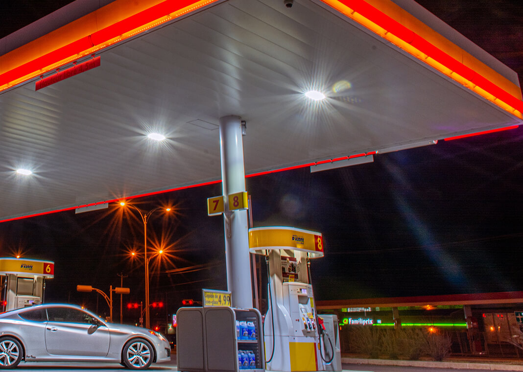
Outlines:
{"label": "bright red glowing stripe along the canopy's right-hand edge", "polygon": [[427,54],[437,62],[441,63],[445,67],[448,67],[451,71],[458,73],[470,82],[480,86],[494,97],[497,97],[509,104],[509,106],[515,108],[518,111],[523,111],[523,101],[509,94],[507,91],[499,88],[490,80],[484,78],[480,74],[476,73],[470,67],[465,66],[463,63],[454,59],[449,54],[445,53],[441,49],[437,48],[434,44],[429,43],[427,40],[420,37],[414,31],[403,26],[400,22],[389,17],[381,10],[373,7],[363,0],[338,0],[345,6],[354,9],[357,13],[363,17],[371,20],[378,26],[382,27],[386,31],[391,32],[401,40],[411,44],[414,48]]}

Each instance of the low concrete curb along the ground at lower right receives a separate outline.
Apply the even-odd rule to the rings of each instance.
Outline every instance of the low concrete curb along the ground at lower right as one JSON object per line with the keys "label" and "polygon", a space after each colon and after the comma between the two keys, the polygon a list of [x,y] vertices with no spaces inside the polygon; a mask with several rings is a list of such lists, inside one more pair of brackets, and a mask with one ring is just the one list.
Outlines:
{"label": "low concrete curb along the ground at lower right", "polygon": [[390,359],[343,358],[342,364],[370,364],[425,368],[484,369],[491,371],[523,371],[523,365],[473,362],[393,361]]}

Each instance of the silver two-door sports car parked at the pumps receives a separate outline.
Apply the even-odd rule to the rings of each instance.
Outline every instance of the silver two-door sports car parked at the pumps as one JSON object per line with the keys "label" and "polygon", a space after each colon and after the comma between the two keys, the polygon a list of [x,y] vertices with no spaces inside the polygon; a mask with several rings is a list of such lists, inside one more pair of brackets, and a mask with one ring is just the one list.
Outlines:
{"label": "silver two-door sports car parked at the pumps", "polygon": [[158,332],[108,323],[76,305],[46,304],[0,314],[0,368],[26,362],[117,362],[146,369],[170,359]]}

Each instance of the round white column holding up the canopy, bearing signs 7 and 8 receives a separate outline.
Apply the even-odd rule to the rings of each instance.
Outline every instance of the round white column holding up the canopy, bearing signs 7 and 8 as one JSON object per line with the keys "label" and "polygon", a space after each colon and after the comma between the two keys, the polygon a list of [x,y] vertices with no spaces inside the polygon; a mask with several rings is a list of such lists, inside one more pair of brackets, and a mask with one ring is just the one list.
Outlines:
{"label": "round white column holding up the canopy, bearing signs 7 and 8", "polygon": [[[227,195],[245,191],[243,162],[242,122],[237,116],[220,118],[220,149],[222,162],[222,189],[225,211]],[[225,258],[227,262],[227,287],[231,291],[233,307],[252,308],[251,263],[249,262],[249,237],[247,210],[225,212]]]}

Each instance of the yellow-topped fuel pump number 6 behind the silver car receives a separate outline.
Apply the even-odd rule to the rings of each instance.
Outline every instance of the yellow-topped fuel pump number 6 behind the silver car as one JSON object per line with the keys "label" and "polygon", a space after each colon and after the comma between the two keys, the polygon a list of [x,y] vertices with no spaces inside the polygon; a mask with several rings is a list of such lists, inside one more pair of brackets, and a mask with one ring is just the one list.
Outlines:
{"label": "yellow-topped fuel pump number 6 behind the silver car", "polygon": [[42,304],[46,279],[54,277],[54,262],[18,258],[0,258],[0,275],[5,311]]}

